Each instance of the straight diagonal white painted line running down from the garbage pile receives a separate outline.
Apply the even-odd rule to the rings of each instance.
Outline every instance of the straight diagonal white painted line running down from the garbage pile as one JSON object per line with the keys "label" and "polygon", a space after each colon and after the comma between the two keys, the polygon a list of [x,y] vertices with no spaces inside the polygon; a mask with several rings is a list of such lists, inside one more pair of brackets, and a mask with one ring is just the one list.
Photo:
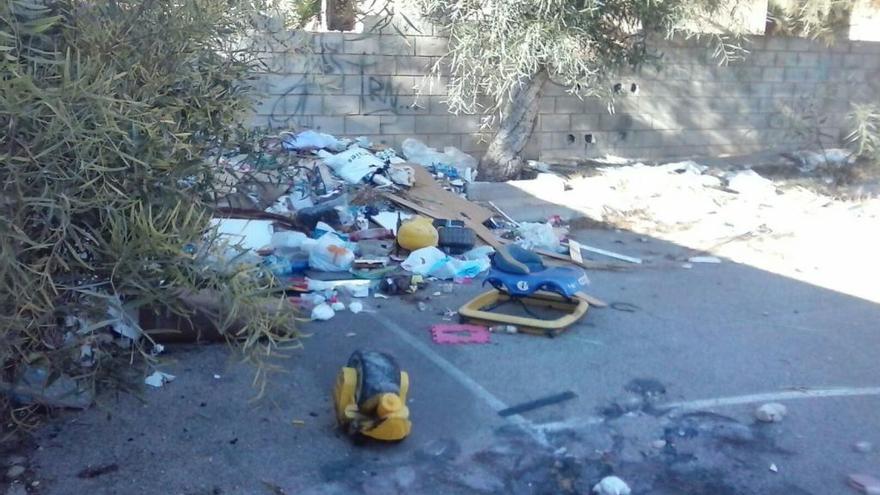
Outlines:
{"label": "straight diagonal white painted line running down from the garbage pile", "polygon": [[[394,334],[397,335],[400,340],[403,340],[404,342],[409,344],[422,356],[426,357],[438,368],[443,370],[447,375],[452,377],[452,379],[468,389],[472,394],[482,399],[483,402],[488,404],[489,407],[491,407],[495,412],[507,409],[509,407],[504,401],[496,397],[492,392],[486,390],[485,387],[477,383],[464,371],[461,371],[454,364],[447,361],[443,356],[437,354],[433,349],[425,345],[424,342],[420,341],[418,338],[414,337],[412,334],[401,328],[397,323],[394,323],[387,317],[379,314],[373,314],[370,316],[372,316],[374,319],[376,319],[376,321],[384,325],[388,330],[394,332]],[[519,414],[507,416],[505,419],[522,428],[523,431],[528,433],[535,441],[537,441],[541,445],[550,446],[550,444],[547,442],[547,437],[544,435],[544,432],[539,428],[536,428],[535,424],[528,419],[522,417]]]}

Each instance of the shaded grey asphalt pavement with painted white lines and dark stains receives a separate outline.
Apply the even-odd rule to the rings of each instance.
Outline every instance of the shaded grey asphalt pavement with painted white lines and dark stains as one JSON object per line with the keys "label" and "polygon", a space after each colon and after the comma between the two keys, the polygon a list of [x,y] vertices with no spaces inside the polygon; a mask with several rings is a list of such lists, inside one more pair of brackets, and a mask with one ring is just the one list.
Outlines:
{"label": "shaded grey asphalt pavement with painted white lines and dark stains", "polygon": [[[563,335],[433,343],[430,325],[479,283],[435,284],[418,296],[426,311],[370,298],[305,325],[257,401],[254,370],[225,346],[168,346],[174,382],[58,414],[35,434],[26,480],[51,495],[585,494],[614,474],[634,494],[825,495],[855,493],[849,473],[880,477],[880,453],[852,448],[880,447],[880,306],[726,260],[685,268],[687,249],[627,232],[574,236],[645,263],[591,272],[591,294],[616,304]],[[336,428],[330,391],[356,349],[409,372],[403,442],[354,444]],[[765,402],[788,415],[756,423]]]}

